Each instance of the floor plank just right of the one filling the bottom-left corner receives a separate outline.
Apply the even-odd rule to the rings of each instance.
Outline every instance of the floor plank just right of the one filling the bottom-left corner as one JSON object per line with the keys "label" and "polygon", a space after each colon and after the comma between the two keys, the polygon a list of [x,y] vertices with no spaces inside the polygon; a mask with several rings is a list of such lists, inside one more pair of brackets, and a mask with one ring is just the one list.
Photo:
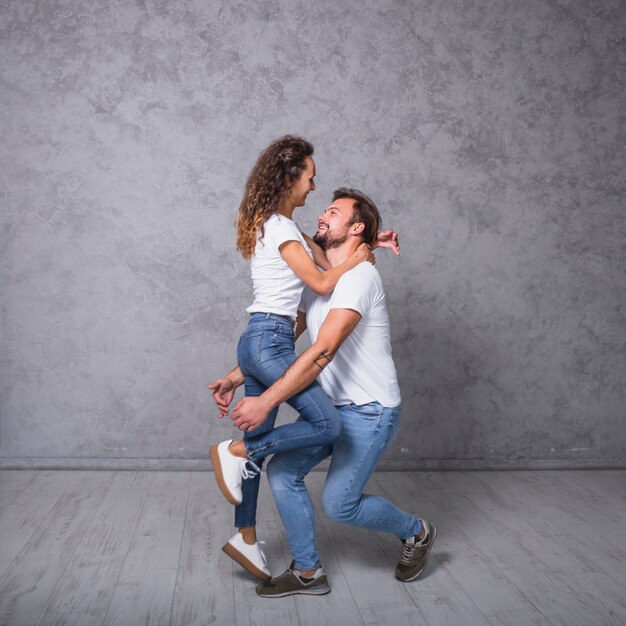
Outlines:
{"label": "floor plank just right of the one filling the bottom-left corner", "polygon": [[154,473],[118,472],[39,624],[102,624]]}

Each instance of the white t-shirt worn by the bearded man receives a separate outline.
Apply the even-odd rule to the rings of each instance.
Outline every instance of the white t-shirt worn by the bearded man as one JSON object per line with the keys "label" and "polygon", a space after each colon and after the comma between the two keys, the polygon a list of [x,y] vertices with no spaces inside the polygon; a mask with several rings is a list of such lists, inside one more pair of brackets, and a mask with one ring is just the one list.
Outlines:
{"label": "white t-shirt worn by the bearded man", "polygon": [[306,311],[313,342],[331,309],[353,309],[361,314],[356,328],[319,376],[333,404],[400,404],[385,291],[380,274],[371,263],[359,263],[346,272],[327,296],[305,288],[299,308]]}

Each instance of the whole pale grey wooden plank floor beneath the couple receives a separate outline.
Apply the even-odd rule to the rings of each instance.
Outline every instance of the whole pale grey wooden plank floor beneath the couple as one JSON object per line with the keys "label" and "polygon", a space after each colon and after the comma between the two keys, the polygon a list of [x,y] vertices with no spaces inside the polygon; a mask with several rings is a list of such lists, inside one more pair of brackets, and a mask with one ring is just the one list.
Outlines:
{"label": "whole pale grey wooden plank floor beneath the couple", "polygon": [[1,471],[0,624],[626,624],[626,471],[388,472],[368,490],[437,524],[422,577],[395,581],[395,538],[318,507],[332,592],[268,600],[220,550],[232,510],[208,472]]}

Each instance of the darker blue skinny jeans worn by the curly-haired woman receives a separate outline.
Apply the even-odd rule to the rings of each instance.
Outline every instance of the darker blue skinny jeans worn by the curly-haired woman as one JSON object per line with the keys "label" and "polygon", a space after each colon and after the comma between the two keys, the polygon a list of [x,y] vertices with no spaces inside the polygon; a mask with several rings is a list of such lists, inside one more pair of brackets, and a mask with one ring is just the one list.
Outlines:
{"label": "darker blue skinny jeans worn by the curly-haired woman", "polygon": [[[260,396],[287,371],[297,358],[294,343],[291,320],[273,313],[252,313],[237,345],[246,396]],[[300,414],[297,421],[274,428],[276,408],[256,430],[244,433],[248,458],[259,467],[270,454],[331,444],[341,433],[339,413],[317,381],[288,403]],[[257,475],[243,481],[243,499],[235,507],[237,528],[256,525],[259,480]]]}

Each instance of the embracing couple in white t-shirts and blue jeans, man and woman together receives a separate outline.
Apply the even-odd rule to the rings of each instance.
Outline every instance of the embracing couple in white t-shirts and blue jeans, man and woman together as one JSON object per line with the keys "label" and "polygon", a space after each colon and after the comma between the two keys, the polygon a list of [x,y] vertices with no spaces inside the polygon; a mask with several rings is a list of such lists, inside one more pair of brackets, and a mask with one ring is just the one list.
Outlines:
{"label": "embracing couple in white t-shirts and blue jeans, man and woman together", "polygon": [[[391,356],[385,293],[371,249],[399,254],[393,230],[363,193],[341,188],[318,218],[311,239],[293,213],[315,189],[313,146],[298,137],[273,142],[248,178],[237,220],[237,248],[251,259],[254,302],[237,346],[238,365],[209,385],[221,416],[232,410],[243,439],[212,446],[218,485],[235,505],[238,532],[223,550],[262,580],[257,594],[283,597],[330,591],[315,539],[305,476],[331,456],[323,506],[338,522],[394,534],[395,570],[408,582],[424,569],[435,526],[363,488],[399,428],[400,391]],[[320,269],[323,271],[320,271]],[[308,328],[312,345],[299,357],[295,340]],[[278,407],[299,414],[274,428]],[[289,538],[292,562],[271,577],[256,536],[260,467]]]}

